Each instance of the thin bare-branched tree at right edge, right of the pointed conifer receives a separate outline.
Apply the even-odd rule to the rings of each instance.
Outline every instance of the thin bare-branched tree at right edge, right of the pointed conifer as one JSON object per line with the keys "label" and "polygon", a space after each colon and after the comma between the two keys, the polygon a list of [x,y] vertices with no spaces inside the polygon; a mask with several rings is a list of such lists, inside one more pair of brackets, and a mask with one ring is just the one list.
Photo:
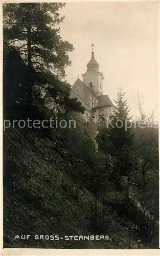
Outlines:
{"label": "thin bare-branched tree at right edge, right of the pointed conifer", "polygon": [[[142,101],[143,100],[143,101]],[[138,93],[136,103],[140,120],[136,125],[134,142],[135,170],[142,174],[142,191],[146,190],[146,176],[149,171],[158,169],[158,129],[154,126],[154,112],[147,116],[143,111],[144,99]]]}

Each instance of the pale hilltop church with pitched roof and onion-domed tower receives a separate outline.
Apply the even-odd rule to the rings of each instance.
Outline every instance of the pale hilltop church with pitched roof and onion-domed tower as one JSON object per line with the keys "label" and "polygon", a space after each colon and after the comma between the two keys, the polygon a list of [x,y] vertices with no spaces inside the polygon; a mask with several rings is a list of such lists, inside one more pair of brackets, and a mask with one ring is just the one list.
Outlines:
{"label": "pale hilltop church with pitched roof and onion-domed tower", "polygon": [[95,59],[94,44],[91,59],[82,77],[83,81],[77,78],[73,84],[71,97],[76,97],[85,107],[85,118],[96,118],[104,125],[111,115],[113,104],[108,95],[103,95],[104,76]]}

